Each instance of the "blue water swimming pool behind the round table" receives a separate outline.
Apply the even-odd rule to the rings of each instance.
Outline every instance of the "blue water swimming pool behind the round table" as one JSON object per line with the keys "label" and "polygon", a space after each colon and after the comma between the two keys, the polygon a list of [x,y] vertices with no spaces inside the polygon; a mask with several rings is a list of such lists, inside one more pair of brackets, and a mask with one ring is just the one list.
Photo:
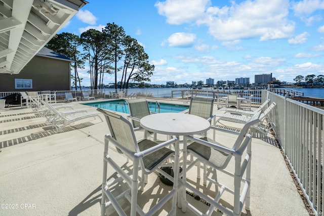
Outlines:
{"label": "blue water swimming pool behind the round table", "polygon": [[[130,113],[128,109],[128,104],[126,100],[111,100],[104,102],[92,102],[92,103],[84,103],[84,105],[94,106],[97,108],[116,111],[120,113]],[[189,105],[179,105],[179,104],[171,104],[171,103],[159,103],[160,105],[160,113],[180,113],[189,109]],[[158,107],[156,102],[148,101],[148,106],[151,112],[158,113]]]}

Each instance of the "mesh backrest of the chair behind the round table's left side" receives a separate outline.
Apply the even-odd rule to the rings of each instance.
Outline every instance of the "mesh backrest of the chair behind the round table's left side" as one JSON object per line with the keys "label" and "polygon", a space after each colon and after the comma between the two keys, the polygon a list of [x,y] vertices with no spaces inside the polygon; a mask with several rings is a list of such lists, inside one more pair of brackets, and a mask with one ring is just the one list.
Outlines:
{"label": "mesh backrest of the chair behind the round table's left side", "polygon": [[[148,116],[151,114],[148,102],[144,98],[130,99],[126,100],[126,102],[128,103],[128,108],[132,117],[141,119],[144,116]],[[140,123],[138,121],[132,120],[132,123],[134,127],[140,126]]]}

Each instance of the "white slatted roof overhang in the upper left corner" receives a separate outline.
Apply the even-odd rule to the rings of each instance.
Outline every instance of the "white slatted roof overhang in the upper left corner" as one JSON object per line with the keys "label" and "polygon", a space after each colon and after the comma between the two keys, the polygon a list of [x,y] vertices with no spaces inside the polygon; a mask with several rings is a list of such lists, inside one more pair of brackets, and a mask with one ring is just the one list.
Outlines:
{"label": "white slatted roof overhang in the upper left corner", "polygon": [[0,0],[0,74],[19,74],[86,4],[83,0]]}

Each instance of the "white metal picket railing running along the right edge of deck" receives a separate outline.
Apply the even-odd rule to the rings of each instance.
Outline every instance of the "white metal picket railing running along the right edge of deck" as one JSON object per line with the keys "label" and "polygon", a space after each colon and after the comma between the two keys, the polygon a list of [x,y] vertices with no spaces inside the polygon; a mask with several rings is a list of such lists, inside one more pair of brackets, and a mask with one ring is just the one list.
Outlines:
{"label": "white metal picket railing running along the right edge of deck", "polygon": [[316,215],[324,212],[324,110],[271,92],[275,135]]}

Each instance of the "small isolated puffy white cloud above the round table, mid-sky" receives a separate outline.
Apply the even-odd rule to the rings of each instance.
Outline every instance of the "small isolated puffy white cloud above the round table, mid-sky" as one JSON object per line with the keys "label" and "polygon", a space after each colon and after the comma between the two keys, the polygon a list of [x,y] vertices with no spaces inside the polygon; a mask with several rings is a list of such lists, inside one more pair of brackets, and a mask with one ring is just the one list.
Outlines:
{"label": "small isolated puffy white cloud above the round table, mid-sky", "polygon": [[177,32],[168,38],[170,47],[192,47],[196,35],[192,33]]}

